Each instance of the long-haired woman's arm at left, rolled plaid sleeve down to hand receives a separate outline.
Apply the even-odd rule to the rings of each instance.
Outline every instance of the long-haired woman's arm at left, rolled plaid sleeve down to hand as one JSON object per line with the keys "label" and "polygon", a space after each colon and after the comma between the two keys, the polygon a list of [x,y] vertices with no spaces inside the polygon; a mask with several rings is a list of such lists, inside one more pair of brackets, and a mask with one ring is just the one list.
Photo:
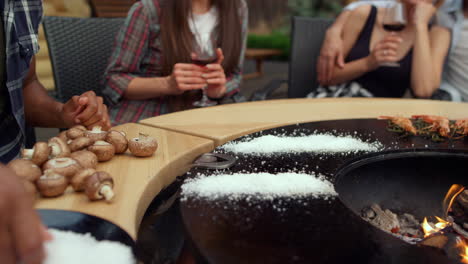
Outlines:
{"label": "long-haired woman's arm at left, rolled plaid sleeve down to hand", "polygon": [[[129,11],[127,20],[117,36],[105,74],[104,90],[113,103],[118,103],[121,98],[145,100],[181,94],[184,90],[201,89],[205,84],[200,78],[201,71],[197,71],[198,69],[191,64],[176,64],[174,73],[170,76],[141,76],[142,61],[150,41],[154,41],[149,39],[151,23],[154,21],[147,14],[143,4],[137,3]],[[198,78],[194,76],[197,74]]]}

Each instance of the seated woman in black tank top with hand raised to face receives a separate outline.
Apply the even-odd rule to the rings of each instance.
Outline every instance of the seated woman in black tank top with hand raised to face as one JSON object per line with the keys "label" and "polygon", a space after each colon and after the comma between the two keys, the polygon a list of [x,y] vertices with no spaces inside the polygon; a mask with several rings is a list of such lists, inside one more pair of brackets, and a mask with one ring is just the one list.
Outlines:
{"label": "seated woman in black tank top with hand raised to face", "polygon": [[[417,97],[433,94],[440,86],[447,54],[444,47],[450,43],[450,32],[442,26],[429,24],[435,6],[443,1],[435,5],[429,0],[401,2],[406,10],[407,25],[398,34],[389,34],[383,28],[386,8],[363,5],[349,13],[342,30],[346,63],[338,57],[338,63],[333,60],[332,70],[324,74],[326,64],[324,60],[319,61],[322,87],[310,97],[402,97],[408,88]],[[399,67],[385,66],[397,62]],[[327,64],[330,65],[330,60]],[[323,87],[344,83],[347,85]]]}

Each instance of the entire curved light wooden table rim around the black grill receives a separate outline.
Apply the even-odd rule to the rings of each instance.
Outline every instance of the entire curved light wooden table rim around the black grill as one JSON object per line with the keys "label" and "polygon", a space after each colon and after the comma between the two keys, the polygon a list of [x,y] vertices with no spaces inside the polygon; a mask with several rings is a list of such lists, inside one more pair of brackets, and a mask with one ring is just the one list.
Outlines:
{"label": "entire curved light wooden table rim around the black grill", "polygon": [[69,190],[59,198],[40,199],[37,208],[95,215],[119,225],[135,239],[152,199],[176,176],[188,171],[198,155],[227,141],[296,123],[412,114],[464,118],[468,116],[468,104],[413,99],[289,99],[182,111],[118,126],[115,129],[127,132],[129,138],[138,132],[156,137],[159,148],[150,158],[122,155],[99,165],[98,170],[115,178],[114,203],[91,203],[83,194]]}

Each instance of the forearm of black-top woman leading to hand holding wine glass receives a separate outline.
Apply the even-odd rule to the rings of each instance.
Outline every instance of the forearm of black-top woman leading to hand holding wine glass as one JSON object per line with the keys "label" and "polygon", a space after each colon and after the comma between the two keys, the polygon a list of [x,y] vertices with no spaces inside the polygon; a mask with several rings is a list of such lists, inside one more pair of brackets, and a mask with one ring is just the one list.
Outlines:
{"label": "forearm of black-top woman leading to hand holding wine glass", "polygon": [[330,85],[349,82],[374,69],[375,66],[371,65],[369,57],[351,61],[346,63],[343,68],[335,67]]}

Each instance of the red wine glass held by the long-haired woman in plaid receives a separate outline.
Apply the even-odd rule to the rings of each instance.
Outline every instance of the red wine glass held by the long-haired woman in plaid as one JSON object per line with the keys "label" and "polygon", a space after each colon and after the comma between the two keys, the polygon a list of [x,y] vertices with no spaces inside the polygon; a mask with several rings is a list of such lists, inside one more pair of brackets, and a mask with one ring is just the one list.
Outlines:
{"label": "red wine glass held by the long-haired woman in plaid", "polygon": [[[210,63],[215,63],[218,59],[215,49],[211,41],[204,42],[205,45],[200,45],[200,42],[195,41],[194,50],[192,53],[192,63],[201,67],[205,67]],[[203,42],[202,42],[203,43]],[[193,103],[196,107],[215,106],[218,102],[210,100],[206,95],[206,86],[202,88],[203,96],[200,100]]]}

